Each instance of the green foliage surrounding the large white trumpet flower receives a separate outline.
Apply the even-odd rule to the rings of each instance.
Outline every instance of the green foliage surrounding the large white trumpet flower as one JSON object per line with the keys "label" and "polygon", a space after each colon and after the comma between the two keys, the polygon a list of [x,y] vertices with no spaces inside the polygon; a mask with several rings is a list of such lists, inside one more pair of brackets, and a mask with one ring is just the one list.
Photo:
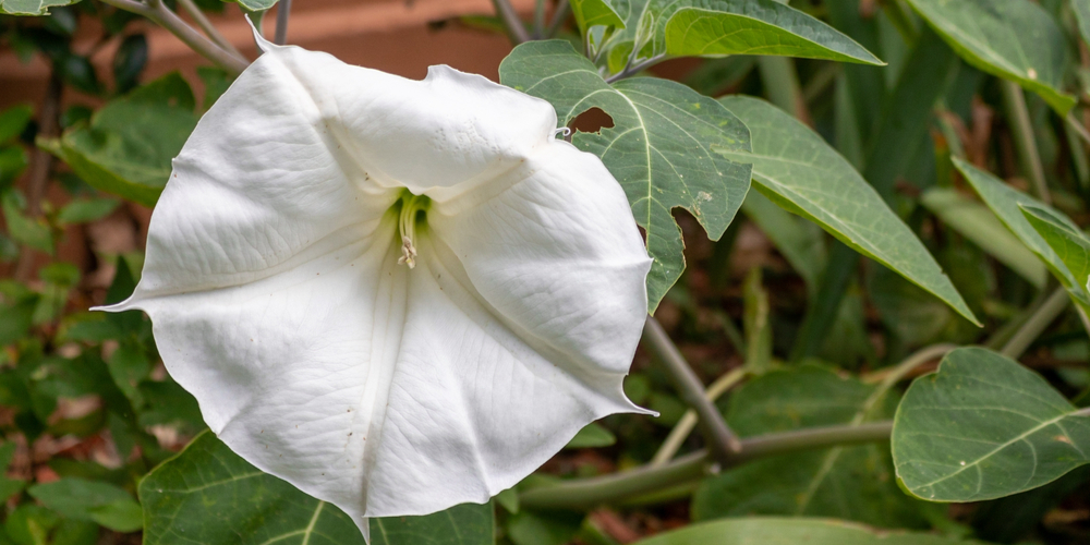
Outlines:
{"label": "green foliage surrounding the large white trumpet flower", "polygon": [[[263,473],[205,431],[148,318],[87,312],[143,263],[95,233],[137,238],[238,70],[214,39],[199,82],[148,81],[146,13],[0,0],[0,48],[52,89],[0,109],[0,544],[1083,543],[1090,2],[569,4],[501,83],[621,184],[649,308],[740,453],[701,450],[640,352],[625,390],[659,416],[586,426],[489,504],[363,526]],[[652,73],[677,58],[697,68]]]}

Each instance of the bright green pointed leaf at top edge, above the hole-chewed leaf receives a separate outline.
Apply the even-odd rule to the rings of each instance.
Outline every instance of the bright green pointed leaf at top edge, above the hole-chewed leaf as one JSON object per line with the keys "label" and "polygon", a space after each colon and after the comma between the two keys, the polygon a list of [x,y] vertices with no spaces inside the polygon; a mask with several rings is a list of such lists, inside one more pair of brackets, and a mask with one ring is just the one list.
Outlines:
{"label": "bright green pointed leaf at top edge, above the hole-chewed leaf", "polygon": [[681,3],[692,7],[669,16],[664,31],[668,55],[778,55],[885,64],[835,28],[773,0]]}

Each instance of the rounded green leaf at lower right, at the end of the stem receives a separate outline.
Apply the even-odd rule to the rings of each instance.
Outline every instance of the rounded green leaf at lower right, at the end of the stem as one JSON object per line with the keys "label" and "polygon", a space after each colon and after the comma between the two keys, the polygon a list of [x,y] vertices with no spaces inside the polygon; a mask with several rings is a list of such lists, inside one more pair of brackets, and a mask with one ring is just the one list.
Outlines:
{"label": "rounded green leaf at lower right, at the end of the stem", "polygon": [[1090,417],[1043,378],[980,348],[955,350],[897,409],[897,477],[932,501],[1036,488],[1090,462]]}

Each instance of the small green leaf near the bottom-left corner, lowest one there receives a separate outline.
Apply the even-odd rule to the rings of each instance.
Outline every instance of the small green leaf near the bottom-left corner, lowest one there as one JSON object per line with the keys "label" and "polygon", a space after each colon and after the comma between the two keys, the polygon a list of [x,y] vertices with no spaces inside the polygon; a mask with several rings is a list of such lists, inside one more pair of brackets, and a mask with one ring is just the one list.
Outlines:
{"label": "small green leaf near the bottom-left corner, lowest one there", "polygon": [[65,477],[34,485],[26,492],[41,505],[70,519],[97,522],[117,532],[133,532],[143,525],[136,500],[109,483]]}

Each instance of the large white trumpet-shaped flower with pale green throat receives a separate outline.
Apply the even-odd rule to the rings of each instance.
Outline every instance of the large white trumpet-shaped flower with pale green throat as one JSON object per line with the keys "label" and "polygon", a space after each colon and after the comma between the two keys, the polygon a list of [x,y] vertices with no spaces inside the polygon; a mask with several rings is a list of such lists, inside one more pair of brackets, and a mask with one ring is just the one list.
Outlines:
{"label": "large white trumpet-shaped flower with pale green throat", "polygon": [[265,45],[174,159],[141,308],[205,422],[366,517],[484,502],[621,389],[651,266],[543,100]]}

